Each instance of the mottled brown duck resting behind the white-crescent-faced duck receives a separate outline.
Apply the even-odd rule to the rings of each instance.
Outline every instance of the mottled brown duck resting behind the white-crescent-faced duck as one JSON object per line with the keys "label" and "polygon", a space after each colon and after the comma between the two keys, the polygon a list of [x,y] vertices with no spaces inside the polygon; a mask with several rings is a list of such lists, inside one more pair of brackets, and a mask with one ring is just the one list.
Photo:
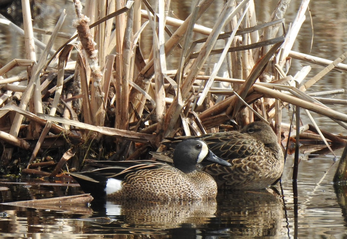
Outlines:
{"label": "mottled brown duck resting behind the white-crescent-faced duck", "polygon": [[[262,189],[282,175],[283,151],[272,128],[263,122],[250,123],[240,132],[170,138],[170,142],[163,144],[174,147],[182,138],[192,137],[202,139],[214,154],[231,163],[231,167],[213,163],[201,168],[214,178],[220,189]],[[171,157],[170,151],[151,154],[164,161]]]}

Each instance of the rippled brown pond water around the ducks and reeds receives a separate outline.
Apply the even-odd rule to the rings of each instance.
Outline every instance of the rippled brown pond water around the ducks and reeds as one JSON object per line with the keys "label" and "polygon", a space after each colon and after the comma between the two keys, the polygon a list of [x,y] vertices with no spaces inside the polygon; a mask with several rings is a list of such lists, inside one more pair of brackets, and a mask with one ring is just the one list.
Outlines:
{"label": "rippled brown pond water around the ducks and reeds", "polygon": [[[45,16],[55,22],[60,15],[60,7],[68,11],[64,31],[73,33],[71,20],[74,11],[70,1],[42,1],[45,11],[34,19],[34,25],[51,29],[52,23],[43,21]],[[288,25],[295,17],[300,0],[291,0],[286,14]],[[191,1],[172,3],[177,5],[175,13],[184,19],[191,11]],[[212,27],[222,1],[215,1],[200,24]],[[257,4],[257,18],[267,21],[277,1],[263,0]],[[57,7],[59,6],[59,7]],[[184,7],[182,7],[184,6]],[[335,60],[347,50],[345,0],[316,0],[310,3],[310,15],[306,12],[305,23],[299,32],[293,50]],[[46,18],[45,18],[46,19]],[[47,36],[37,35],[42,41]],[[313,45],[311,39],[313,37]],[[65,40],[61,40],[61,43]],[[13,58],[23,58],[23,38],[0,25],[1,64]],[[60,44],[61,44],[60,43]],[[54,45],[58,48],[60,45]],[[175,56],[172,56],[175,57]],[[302,69],[306,62],[292,60],[290,74]],[[322,70],[313,66],[309,77]],[[25,69],[20,69],[25,70]],[[20,71],[14,69],[10,74]],[[345,89],[346,73],[331,72],[315,84],[309,91]],[[346,95],[334,96],[346,99]],[[346,113],[345,106],[332,106]],[[327,117],[313,114],[318,125],[332,133],[347,134],[345,129]],[[310,123],[302,116],[303,123]],[[288,122],[286,122],[288,123]],[[338,158],[342,149],[335,151]],[[276,190],[251,192],[220,192],[215,202],[206,204],[187,203],[179,205],[117,205],[117,202],[92,202],[91,207],[82,206],[69,210],[30,209],[0,205],[1,238],[347,238],[346,187],[335,191],[332,178],[337,163],[333,156],[301,154],[297,184],[291,176],[293,159],[288,157],[281,187]],[[40,181],[22,179],[19,183],[0,183],[9,190],[0,192],[0,202],[76,195],[82,193],[75,184],[69,186],[43,185]],[[65,182],[63,182],[65,183]],[[297,191],[297,197],[294,192]],[[64,234],[63,234],[64,233]]]}

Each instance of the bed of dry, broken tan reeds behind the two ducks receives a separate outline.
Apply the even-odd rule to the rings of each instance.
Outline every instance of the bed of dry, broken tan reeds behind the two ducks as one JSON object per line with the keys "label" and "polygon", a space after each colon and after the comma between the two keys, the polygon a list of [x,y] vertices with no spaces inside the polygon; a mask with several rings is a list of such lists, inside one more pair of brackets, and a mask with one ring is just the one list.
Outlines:
{"label": "bed of dry, broken tan reeds behind the two ducks", "polygon": [[[47,43],[33,37],[28,1],[23,1],[24,30],[8,23],[24,34],[27,59],[9,62],[0,76],[15,67],[27,67],[27,73],[0,79],[2,173],[20,169],[56,176],[80,169],[86,158],[146,158],[149,150],[163,150],[165,137],[235,130],[236,124],[255,120],[269,122],[284,148],[299,135],[322,141],[328,149],[346,143],[343,136],[319,130],[310,115],[316,112],[347,129],[347,115],[324,105],[347,102],[322,97],[343,92],[305,91],[333,69],[346,71],[341,62],[347,53],[332,62],[291,50],[308,1],[289,30],[282,19],[288,0],[279,1],[269,22],[260,25],[256,2],[223,1],[213,28],[196,24],[213,0],[196,3],[184,21],[168,16],[170,6],[164,1],[158,6],[146,0],[106,2],[71,3],[77,34],[58,51],[51,47],[58,34],[66,36],[60,32],[65,11]],[[138,44],[146,26],[153,30],[151,46]],[[194,32],[206,37],[195,39]],[[44,48],[43,53],[36,55],[33,45]],[[148,59],[142,47],[151,48]],[[177,68],[167,63],[173,52],[179,55]],[[287,75],[292,59],[325,68],[311,79],[310,66]],[[224,77],[217,76],[222,64]],[[289,105],[293,115],[304,108],[312,125],[282,124],[282,109]]]}

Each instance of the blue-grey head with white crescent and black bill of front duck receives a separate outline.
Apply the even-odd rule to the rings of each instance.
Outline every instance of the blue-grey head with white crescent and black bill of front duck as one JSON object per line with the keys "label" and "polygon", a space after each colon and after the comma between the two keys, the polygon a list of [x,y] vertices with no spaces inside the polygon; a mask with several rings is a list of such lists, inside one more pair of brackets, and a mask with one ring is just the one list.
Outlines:
{"label": "blue-grey head with white crescent and black bill of front duck", "polygon": [[183,140],[177,144],[173,156],[174,166],[185,173],[196,170],[196,163],[200,163],[204,159],[220,165],[231,166],[227,161],[217,157],[207,144],[199,139]]}

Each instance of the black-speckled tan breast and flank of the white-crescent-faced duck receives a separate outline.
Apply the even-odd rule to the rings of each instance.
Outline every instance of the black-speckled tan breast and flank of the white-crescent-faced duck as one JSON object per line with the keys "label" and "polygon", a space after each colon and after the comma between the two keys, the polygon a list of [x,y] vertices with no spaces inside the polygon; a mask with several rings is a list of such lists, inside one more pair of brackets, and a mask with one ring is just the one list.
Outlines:
{"label": "black-speckled tan breast and flank of the white-crescent-faced duck", "polygon": [[201,171],[185,174],[171,166],[131,173],[122,186],[121,191],[107,197],[112,200],[194,201],[209,200],[217,195],[217,184],[210,175]]}

